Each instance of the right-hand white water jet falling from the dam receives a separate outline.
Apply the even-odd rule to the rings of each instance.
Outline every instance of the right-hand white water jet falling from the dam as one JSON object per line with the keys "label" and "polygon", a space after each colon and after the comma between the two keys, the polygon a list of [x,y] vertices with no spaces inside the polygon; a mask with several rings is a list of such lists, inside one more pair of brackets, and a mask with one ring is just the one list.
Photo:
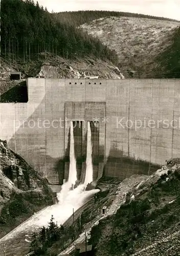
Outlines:
{"label": "right-hand white water jet falling from the dam", "polygon": [[91,126],[87,122],[87,154],[86,154],[86,173],[84,185],[93,181],[93,163],[92,163],[92,141],[91,141]]}

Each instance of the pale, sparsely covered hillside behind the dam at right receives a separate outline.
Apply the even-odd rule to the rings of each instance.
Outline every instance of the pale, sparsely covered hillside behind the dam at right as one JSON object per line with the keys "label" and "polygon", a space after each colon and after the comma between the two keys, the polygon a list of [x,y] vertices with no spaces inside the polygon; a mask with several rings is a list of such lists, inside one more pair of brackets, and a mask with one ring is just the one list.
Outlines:
{"label": "pale, sparsely covered hillside behind the dam at right", "polygon": [[79,28],[116,50],[126,78],[179,78],[179,25],[161,19],[104,17]]}

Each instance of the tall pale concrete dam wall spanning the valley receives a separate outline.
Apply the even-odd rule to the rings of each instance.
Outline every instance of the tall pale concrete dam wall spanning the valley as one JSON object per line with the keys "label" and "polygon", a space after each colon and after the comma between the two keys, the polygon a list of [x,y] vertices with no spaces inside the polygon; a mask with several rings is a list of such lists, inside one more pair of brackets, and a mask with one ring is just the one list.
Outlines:
{"label": "tall pale concrete dam wall spanning the valley", "polygon": [[180,79],[28,78],[27,103],[1,103],[1,136],[50,184],[69,175],[70,121],[78,179],[87,122],[93,179],[148,174],[180,153]]}

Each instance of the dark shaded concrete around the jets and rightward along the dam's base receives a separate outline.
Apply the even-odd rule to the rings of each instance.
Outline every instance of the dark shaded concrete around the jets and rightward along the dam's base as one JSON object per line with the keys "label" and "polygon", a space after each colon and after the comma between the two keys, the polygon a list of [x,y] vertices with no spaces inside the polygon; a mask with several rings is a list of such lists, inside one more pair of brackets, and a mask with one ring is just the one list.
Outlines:
{"label": "dark shaded concrete around the jets and rightward along the dam's base", "polygon": [[[99,145],[99,124],[91,122],[92,132],[92,162],[93,162],[93,180],[98,179],[99,163],[104,163],[104,155],[100,154],[104,150],[104,146]],[[86,146],[87,146],[87,132],[83,136],[82,124],[74,128],[74,147],[76,157],[76,168],[78,180],[84,179],[86,169]],[[68,134],[68,147],[65,150],[64,158],[59,159],[56,169],[59,176],[59,183],[63,183],[64,177],[68,179],[70,163],[70,130]],[[123,180],[131,175],[151,175],[160,166],[151,164],[141,159],[128,157],[123,151],[118,150],[115,145],[111,145],[108,157],[105,160],[103,167],[103,178],[108,177],[118,178]],[[66,173],[65,173],[66,172]],[[108,175],[106,175],[108,174]],[[110,174],[110,176],[109,176]],[[100,178],[100,177],[99,177]]]}

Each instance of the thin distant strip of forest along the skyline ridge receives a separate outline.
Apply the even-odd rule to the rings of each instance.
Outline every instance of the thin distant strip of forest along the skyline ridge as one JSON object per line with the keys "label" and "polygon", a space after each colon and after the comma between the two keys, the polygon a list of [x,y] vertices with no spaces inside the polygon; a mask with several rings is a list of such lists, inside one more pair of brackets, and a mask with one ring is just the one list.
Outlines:
{"label": "thin distant strip of forest along the skyline ridge", "polygon": [[130,12],[115,12],[115,11],[74,11],[74,12],[58,12],[52,14],[60,22],[74,24],[80,26],[92,20],[103,18],[103,17],[137,17],[137,18],[151,18],[156,20],[169,20],[175,21],[175,19],[156,17],[138,13]]}

